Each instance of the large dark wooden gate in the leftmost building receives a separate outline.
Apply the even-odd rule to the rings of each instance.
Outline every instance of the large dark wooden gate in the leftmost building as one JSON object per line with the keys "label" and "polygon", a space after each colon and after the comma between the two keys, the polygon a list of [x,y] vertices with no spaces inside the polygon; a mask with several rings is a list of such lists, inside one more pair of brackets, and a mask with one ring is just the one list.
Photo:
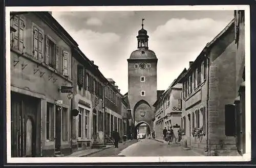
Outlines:
{"label": "large dark wooden gate in the leftmost building", "polygon": [[32,157],[36,148],[38,100],[27,95],[11,94],[11,156]]}

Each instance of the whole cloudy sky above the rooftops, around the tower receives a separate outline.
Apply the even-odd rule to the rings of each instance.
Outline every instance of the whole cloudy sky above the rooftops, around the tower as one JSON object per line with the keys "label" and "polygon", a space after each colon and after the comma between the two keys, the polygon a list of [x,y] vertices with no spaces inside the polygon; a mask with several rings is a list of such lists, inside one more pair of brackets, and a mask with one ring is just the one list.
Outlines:
{"label": "whole cloudy sky above the rooftops, around the tower", "polygon": [[225,28],[233,11],[76,11],[52,15],[124,94],[128,89],[127,59],[137,50],[142,18],[150,36],[148,48],[158,58],[157,89],[165,90]]}

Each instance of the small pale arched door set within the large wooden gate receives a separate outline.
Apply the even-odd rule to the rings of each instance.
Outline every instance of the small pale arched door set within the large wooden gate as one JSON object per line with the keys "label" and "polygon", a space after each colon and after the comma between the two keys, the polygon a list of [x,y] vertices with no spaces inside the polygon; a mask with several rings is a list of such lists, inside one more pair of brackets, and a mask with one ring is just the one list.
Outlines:
{"label": "small pale arched door set within the large wooden gate", "polygon": [[26,156],[32,156],[33,151],[33,122],[29,117],[26,123]]}

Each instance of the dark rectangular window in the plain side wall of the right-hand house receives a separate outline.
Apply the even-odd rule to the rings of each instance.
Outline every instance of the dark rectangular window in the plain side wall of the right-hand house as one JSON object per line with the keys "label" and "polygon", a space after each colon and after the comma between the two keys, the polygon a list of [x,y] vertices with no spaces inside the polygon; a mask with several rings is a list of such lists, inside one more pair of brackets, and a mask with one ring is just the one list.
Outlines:
{"label": "dark rectangular window in the plain side wall of the right-hand house", "polygon": [[226,136],[235,135],[235,106],[225,105],[225,134]]}

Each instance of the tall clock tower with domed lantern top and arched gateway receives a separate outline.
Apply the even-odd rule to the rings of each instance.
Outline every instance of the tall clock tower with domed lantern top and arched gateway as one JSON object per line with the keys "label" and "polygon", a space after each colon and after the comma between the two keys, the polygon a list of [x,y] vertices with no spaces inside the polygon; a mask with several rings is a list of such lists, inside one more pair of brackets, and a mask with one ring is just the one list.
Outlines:
{"label": "tall clock tower with domed lantern top and arched gateway", "polygon": [[[155,116],[153,104],[157,99],[157,57],[148,50],[147,31],[139,30],[138,50],[132,52],[128,62],[128,99],[133,117],[134,136],[137,127],[144,123],[153,129]],[[151,132],[151,131],[150,131]]]}

